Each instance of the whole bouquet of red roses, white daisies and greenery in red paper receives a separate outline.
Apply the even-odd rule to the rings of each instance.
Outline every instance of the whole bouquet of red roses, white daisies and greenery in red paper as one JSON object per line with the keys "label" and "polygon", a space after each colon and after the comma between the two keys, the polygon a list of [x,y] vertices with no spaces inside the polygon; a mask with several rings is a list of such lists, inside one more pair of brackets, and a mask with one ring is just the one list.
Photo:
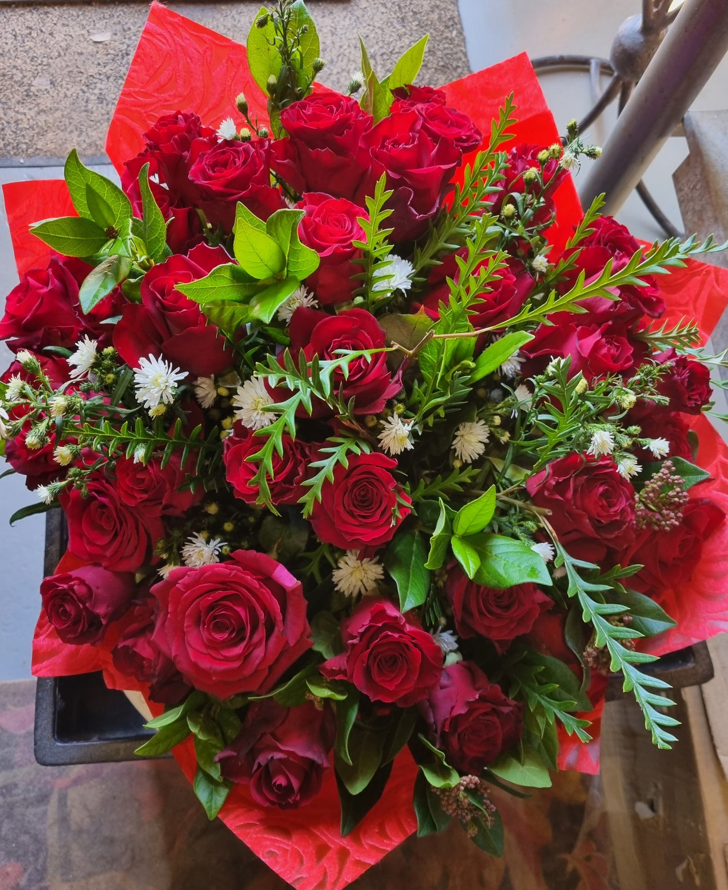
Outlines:
{"label": "whole bouquet of red roses, white daisies and greenery in red paper", "polygon": [[669,747],[650,663],[728,627],[716,248],[582,211],[525,56],[424,49],[343,95],[300,0],[247,50],[152,4],[121,188],[4,187],[0,433],[69,532],[34,673],[142,692],[303,890],[452,819],[499,854],[491,789],[595,773],[611,673]]}

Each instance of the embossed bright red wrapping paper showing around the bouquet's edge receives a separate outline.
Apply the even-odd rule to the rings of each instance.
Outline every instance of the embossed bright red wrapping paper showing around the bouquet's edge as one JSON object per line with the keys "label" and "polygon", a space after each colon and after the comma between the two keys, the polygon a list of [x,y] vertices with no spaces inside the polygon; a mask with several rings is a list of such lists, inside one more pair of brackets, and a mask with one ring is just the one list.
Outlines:
{"label": "embossed bright red wrapping paper showing around the bouquet's edge", "polygon": [[[511,92],[518,124],[513,128],[514,142],[510,144],[547,145],[558,138],[554,118],[525,54],[457,80],[444,89],[449,103],[472,117],[486,138],[491,119],[497,117],[506,93]],[[152,4],[109,129],[109,157],[121,169],[126,159],[142,149],[142,133],[157,117],[178,109],[194,110],[205,124],[214,126],[223,117],[238,117],[234,99],[241,91],[246,93],[253,113],[263,119],[263,93],[250,76],[245,48],[164,6]],[[28,223],[73,213],[65,184],[13,183],[4,186],[4,198],[20,273],[44,265],[48,248],[29,235]],[[554,199],[558,223],[551,230],[551,239],[554,249],[559,250],[581,215],[570,178],[557,190]],[[667,320],[695,318],[703,336],[709,336],[728,303],[728,271],[690,262],[686,269],[664,276],[660,284],[667,302]],[[700,496],[709,494],[728,511],[728,449],[706,417],[697,417],[694,428],[700,436],[698,463],[713,476],[713,481],[700,486]],[[67,556],[61,561],[64,569],[72,567],[69,560]],[[708,540],[690,584],[662,594],[661,602],[679,626],[650,641],[650,650],[673,651],[728,629],[726,575],[728,523]],[[103,670],[109,686],[129,688],[133,684],[119,675],[111,663],[109,651],[113,642],[108,637],[101,646],[66,645],[42,615],[33,641],[33,673],[61,676]],[[582,745],[573,738],[562,737],[562,768],[598,771],[602,708],[603,702],[591,715],[595,719],[595,741]],[[191,745],[183,743],[174,754],[191,780],[195,769]],[[301,890],[341,890],[416,828],[411,804],[415,774],[411,757],[403,752],[382,799],[359,828],[345,838],[339,835],[339,805],[332,771],[328,772],[319,797],[304,810],[284,812],[260,807],[246,789],[236,787],[222,808],[221,818],[289,883]]]}

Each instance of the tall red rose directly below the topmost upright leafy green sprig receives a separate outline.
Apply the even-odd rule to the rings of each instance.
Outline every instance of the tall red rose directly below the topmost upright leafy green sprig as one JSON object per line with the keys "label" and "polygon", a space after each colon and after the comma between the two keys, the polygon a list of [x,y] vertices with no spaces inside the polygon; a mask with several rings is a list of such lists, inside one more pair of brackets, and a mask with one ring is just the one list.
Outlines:
{"label": "tall red rose directly below the topmost upright leafy green sprig", "polygon": [[358,158],[362,134],[372,125],[351,96],[321,90],[280,112],[288,136],[273,142],[273,169],[299,193],[323,191],[353,198],[368,161]]}

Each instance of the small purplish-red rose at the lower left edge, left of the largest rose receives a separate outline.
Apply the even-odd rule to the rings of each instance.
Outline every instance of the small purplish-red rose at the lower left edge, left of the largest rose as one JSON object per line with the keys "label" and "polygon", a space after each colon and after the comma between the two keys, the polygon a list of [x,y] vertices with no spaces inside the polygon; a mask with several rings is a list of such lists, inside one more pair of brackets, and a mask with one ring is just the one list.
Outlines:
{"label": "small purplish-red rose at the lower left edge, left of the largest rose", "polygon": [[44,612],[64,643],[101,643],[109,623],[132,603],[134,577],[85,565],[44,578],[40,595]]}

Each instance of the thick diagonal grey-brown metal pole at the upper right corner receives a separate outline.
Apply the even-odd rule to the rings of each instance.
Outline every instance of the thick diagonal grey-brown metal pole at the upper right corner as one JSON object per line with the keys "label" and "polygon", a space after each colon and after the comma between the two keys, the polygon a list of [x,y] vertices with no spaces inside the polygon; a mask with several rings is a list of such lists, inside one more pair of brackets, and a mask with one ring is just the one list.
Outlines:
{"label": "thick diagonal grey-brown metal pole at the upper right corner", "polygon": [[579,189],[614,214],[728,52],[728,0],[686,0]]}

